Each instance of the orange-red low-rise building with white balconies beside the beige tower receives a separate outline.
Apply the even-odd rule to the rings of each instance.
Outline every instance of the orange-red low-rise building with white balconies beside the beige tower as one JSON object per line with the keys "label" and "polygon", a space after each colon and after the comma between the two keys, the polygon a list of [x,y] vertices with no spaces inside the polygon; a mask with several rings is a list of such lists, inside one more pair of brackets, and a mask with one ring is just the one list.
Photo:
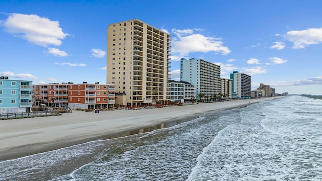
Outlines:
{"label": "orange-red low-rise building with white balconies beside the beige tower", "polygon": [[96,83],[49,83],[33,85],[35,105],[79,109],[114,108],[115,85]]}

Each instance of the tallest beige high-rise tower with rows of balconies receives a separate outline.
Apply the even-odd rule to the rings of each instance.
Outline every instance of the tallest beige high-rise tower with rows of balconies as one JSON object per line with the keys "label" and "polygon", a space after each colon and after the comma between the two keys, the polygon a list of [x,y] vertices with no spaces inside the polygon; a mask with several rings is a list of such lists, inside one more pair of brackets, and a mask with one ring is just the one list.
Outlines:
{"label": "tallest beige high-rise tower with rows of balconies", "polygon": [[125,106],[167,104],[171,35],[134,19],[107,29],[107,78]]}

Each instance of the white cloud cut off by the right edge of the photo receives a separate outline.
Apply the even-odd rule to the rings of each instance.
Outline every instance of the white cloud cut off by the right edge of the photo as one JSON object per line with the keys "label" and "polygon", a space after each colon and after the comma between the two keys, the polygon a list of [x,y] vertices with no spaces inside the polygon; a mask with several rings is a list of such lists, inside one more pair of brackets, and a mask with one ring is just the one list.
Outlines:
{"label": "white cloud cut off by the right edge of the photo", "polygon": [[285,38],[294,43],[293,48],[305,48],[308,45],[322,42],[322,28],[289,31],[286,33]]}

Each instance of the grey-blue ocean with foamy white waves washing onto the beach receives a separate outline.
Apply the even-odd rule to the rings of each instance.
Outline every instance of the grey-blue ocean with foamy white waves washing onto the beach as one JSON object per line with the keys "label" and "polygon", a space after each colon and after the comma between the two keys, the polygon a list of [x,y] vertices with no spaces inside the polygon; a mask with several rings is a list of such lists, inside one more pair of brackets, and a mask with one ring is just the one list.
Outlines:
{"label": "grey-blue ocean with foamy white waves washing onto the beach", "polygon": [[7,160],[0,180],[322,181],[322,100],[286,96]]}

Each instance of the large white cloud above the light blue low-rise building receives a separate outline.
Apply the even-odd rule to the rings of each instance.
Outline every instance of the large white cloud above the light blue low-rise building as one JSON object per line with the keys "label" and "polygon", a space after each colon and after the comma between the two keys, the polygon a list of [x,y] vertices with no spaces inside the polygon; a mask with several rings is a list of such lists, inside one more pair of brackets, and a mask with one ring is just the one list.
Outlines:
{"label": "large white cloud above the light blue low-rise building", "polygon": [[2,24],[6,32],[45,47],[61,45],[61,40],[68,35],[62,32],[58,21],[51,21],[37,15],[10,14]]}

